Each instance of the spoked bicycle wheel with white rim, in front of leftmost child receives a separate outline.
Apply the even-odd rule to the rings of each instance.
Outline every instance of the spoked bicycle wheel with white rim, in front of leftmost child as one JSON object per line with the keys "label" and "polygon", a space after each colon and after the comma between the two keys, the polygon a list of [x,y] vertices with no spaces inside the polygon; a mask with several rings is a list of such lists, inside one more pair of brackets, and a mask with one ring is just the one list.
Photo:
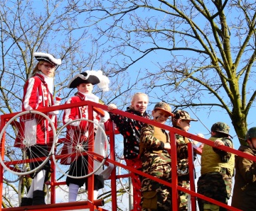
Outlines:
{"label": "spoked bicycle wheel with white rim, in front of leftmost child", "polygon": [[[38,169],[41,169],[41,167],[48,162],[50,155],[53,152],[54,144],[52,142],[51,146],[49,146],[47,150],[46,148],[43,149],[37,145],[37,150],[42,150],[42,152],[44,150],[47,156],[39,158],[36,157],[31,150],[33,147],[31,144],[31,139],[28,136],[26,136],[26,139],[24,139],[24,134],[26,132],[23,130],[23,127],[21,127],[20,122],[17,121],[19,118],[22,118],[23,122],[33,120],[33,124],[30,125],[31,127],[26,128],[26,132],[28,129],[30,134],[33,136],[36,134],[36,125],[42,121],[48,125],[47,130],[52,133],[53,137],[55,137],[56,132],[55,126],[50,118],[37,110],[23,111],[6,122],[6,125],[4,125],[4,128],[0,133],[0,144],[2,144],[2,147],[4,148],[2,149],[4,155],[0,154],[0,163],[4,167],[4,170],[9,171],[9,173],[23,176],[38,171]],[[33,162],[31,162],[31,159],[24,159],[26,158],[26,154],[31,154],[31,159],[33,159]],[[33,164],[35,168],[23,171],[23,166],[29,166],[29,164]]]}

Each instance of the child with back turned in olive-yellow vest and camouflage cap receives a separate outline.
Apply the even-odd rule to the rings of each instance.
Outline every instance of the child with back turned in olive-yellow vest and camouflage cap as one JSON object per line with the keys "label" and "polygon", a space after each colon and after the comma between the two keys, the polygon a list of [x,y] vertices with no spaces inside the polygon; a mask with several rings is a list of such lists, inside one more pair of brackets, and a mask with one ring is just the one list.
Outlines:
{"label": "child with back turned in olive-yellow vest and camouflage cap", "polygon": [[[233,147],[230,127],[225,122],[216,122],[211,127],[214,147],[203,145],[201,154],[201,176],[198,178],[198,193],[228,205],[232,190],[232,178],[235,168],[235,155],[215,147]],[[227,210],[207,200],[198,198],[199,210]]]}

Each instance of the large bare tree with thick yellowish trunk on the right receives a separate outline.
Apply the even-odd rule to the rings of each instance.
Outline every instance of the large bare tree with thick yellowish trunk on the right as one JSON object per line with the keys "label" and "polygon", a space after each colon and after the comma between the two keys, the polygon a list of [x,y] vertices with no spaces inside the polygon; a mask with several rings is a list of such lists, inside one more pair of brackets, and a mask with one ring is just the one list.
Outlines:
{"label": "large bare tree with thick yellowish trunk on the right", "polygon": [[94,0],[70,7],[97,30],[95,42],[107,42],[112,74],[158,57],[142,77],[150,96],[175,108],[222,110],[245,137],[256,96],[255,1]]}

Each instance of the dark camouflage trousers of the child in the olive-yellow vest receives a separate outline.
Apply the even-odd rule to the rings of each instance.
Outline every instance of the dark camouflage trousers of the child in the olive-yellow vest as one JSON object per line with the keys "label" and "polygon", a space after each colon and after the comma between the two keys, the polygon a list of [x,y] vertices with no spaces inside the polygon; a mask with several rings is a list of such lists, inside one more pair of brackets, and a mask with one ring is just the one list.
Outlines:
{"label": "dark camouflage trousers of the child in the olive-yellow vest", "polygon": [[[228,204],[231,191],[232,176],[227,174],[226,169],[221,169],[220,173],[206,173],[198,178],[198,193],[208,198],[218,200],[220,203]],[[204,210],[204,207],[209,204],[207,200],[198,198],[199,210]],[[220,207],[219,210],[225,211],[227,209]]]}

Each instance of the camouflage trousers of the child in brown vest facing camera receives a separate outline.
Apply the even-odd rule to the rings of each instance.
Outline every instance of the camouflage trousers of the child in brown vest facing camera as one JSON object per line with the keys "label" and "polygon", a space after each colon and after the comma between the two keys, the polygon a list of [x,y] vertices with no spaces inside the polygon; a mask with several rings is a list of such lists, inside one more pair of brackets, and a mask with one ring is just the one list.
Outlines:
{"label": "camouflage trousers of the child in brown vest facing camera", "polygon": [[[171,159],[165,154],[142,158],[142,171],[171,182]],[[149,178],[142,179],[142,211],[171,210],[171,188]]]}

